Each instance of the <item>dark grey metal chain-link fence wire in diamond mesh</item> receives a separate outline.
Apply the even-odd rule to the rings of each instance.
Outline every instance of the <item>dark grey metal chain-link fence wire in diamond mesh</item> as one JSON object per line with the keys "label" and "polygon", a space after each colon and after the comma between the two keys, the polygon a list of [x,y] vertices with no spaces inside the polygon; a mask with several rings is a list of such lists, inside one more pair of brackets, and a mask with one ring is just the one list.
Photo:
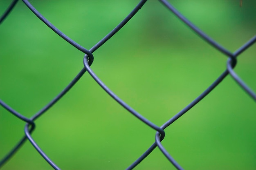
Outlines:
{"label": "dark grey metal chain-link fence wire in diamond mesh", "polygon": [[[74,46],[76,49],[82,51],[85,56],[83,58],[83,64],[84,68],[76,75],[76,77],[70,82],[70,84],[67,85],[66,88],[63,89],[61,93],[59,93],[54,99],[52,99],[51,102],[49,102],[45,107],[43,107],[40,111],[35,113],[31,118],[25,117],[22,114],[18,113],[15,109],[8,106],[4,101],[0,100],[0,104],[3,108],[9,111],[9,113],[13,114],[17,117],[17,119],[20,119],[21,121],[26,122],[25,126],[25,135],[20,139],[18,144],[14,146],[14,148],[5,155],[4,158],[0,161],[0,167],[4,165],[11,157],[18,151],[20,147],[27,141],[27,139],[30,141],[30,143],[34,146],[34,148],[39,152],[39,154],[45,159],[52,168],[59,170],[60,168],[52,161],[48,156],[47,153],[45,153],[40,146],[36,143],[36,141],[31,136],[32,132],[35,130],[35,121],[40,116],[42,116],[47,110],[49,110],[56,102],[63,97],[78,81],[79,79],[84,75],[85,72],[88,72],[92,78],[97,82],[101,88],[103,88],[106,93],[108,93],[112,99],[117,101],[124,109],[128,110],[132,115],[137,117],[141,122],[145,124],[145,126],[149,126],[153,128],[156,131],[155,134],[155,142],[144,152],[143,155],[141,155],[134,163],[130,164],[130,166],[127,168],[127,170],[131,170],[135,168],[141,161],[143,161],[155,148],[159,148],[161,152],[164,154],[164,156],[177,168],[178,170],[183,170],[182,165],[180,165],[175,159],[171,156],[171,153],[164,148],[164,145],[161,143],[162,140],[164,140],[165,132],[164,129],[170,126],[174,121],[179,119],[182,115],[184,115],[188,110],[193,108],[198,102],[200,102],[205,96],[207,96],[220,82],[222,82],[227,75],[231,75],[235,82],[237,82],[253,100],[256,101],[256,94],[252,89],[249,88],[243,82],[243,80],[236,74],[234,71],[234,67],[237,65],[237,57],[246,51],[250,46],[252,46],[256,42],[256,36],[254,36],[251,40],[246,42],[243,46],[241,46],[237,51],[234,53],[231,53],[227,49],[225,49],[223,46],[218,44],[216,41],[214,41],[211,37],[206,35],[202,30],[200,30],[197,26],[195,26],[192,22],[187,20],[177,9],[175,9],[170,2],[167,0],[159,0],[168,10],[170,10],[173,14],[175,14],[182,22],[184,22],[187,26],[189,26],[198,36],[200,36],[205,42],[209,43],[211,46],[213,46],[216,50],[220,51],[224,55],[227,56],[227,69],[216,79],[205,91],[203,91],[196,99],[194,99],[189,105],[187,105],[185,108],[183,108],[179,113],[177,113],[175,116],[173,116],[171,119],[166,121],[162,126],[157,126],[153,122],[149,121],[146,117],[139,114],[136,110],[134,110],[132,107],[130,107],[128,104],[126,104],[121,98],[119,98],[114,92],[104,84],[101,79],[92,71],[92,68],[90,67],[94,61],[94,55],[92,54],[94,51],[99,49],[105,42],[107,42],[115,33],[117,33],[127,22],[129,22],[132,17],[141,9],[141,7],[144,6],[144,4],[147,2],[146,0],[141,0],[139,4],[131,11],[129,15],[120,23],[118,24],[115,29],[113,29],[108,35],[106,35],[102,40],[100,40],[97,44],[95,44],[90,50],[85,49],[83,46],[79,45],[67,35],[62,33],[59,29],[57,29],[53,24],[51,24],[43,15],[41,15],[29,2],[28,0],[22,0],[24,4],[27,5],[27,7],[40,19],[42,20],[47,26],[49,26],[50,29],[52,29],[56,34],[58,34],[61,38],[69,42],[72,46]],[[9,8],[6,10],[6,12],[2,15],[0,18],[0,23],[3,22],[4,19],[7,18],[8,14],[12,11],[15,4],[18,2],[18,0],[14,0]]]}

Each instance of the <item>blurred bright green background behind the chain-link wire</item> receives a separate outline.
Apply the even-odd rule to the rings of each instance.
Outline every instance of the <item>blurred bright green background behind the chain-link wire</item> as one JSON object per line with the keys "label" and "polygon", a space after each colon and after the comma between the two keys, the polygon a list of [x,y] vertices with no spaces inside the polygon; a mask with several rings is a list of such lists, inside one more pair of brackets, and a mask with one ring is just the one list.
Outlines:
{"label": "blurred bright green background behind the chain-link wire", "polygon": [[[3,13],[11,0],[0,1]],[[62,0],[31,4],[67,36],[90,49],[137,0]],[[234,52],[256,33],[256,1],[170,1],[191,22]],[[161,126],[204,91],[227,57],[155,0],[94,53],[92,69],[141,115]],[[256,45],[238,57],[236,73],[256,91]],[[0,25],[0,99],[26,117],[51,101],[83,68],[83,53],[41,22],[22,1]],[[256,169],[255,101],[228,76],[166,128],[162,141],[186,170]],[[25,123],[0,107],[0,157]],[[155,131],[108,96],[88,73],[36,120],[32,137],[64,170],[124,170]],[[2,170],[51,170],[27,141]],[[156,148],[135,170],[174,170]]]}

